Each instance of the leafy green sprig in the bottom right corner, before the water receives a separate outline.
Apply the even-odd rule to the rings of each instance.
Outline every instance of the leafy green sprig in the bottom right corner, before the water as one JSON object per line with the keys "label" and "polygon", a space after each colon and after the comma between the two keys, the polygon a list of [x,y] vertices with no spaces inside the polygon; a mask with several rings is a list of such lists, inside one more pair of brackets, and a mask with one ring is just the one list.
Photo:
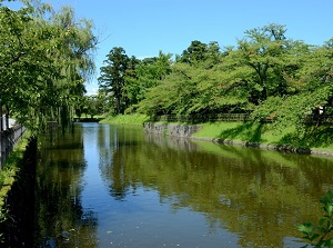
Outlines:
{"label": "leafy green sprig in the bottom right corner, before the water", "polygon": [[320,201],[323,205],[324,215],[319,220],[319,225],[305,222],[299,226],[299,230],[304,235],[303,239],[312,247],[333,247],[333,191],[327,191]]}

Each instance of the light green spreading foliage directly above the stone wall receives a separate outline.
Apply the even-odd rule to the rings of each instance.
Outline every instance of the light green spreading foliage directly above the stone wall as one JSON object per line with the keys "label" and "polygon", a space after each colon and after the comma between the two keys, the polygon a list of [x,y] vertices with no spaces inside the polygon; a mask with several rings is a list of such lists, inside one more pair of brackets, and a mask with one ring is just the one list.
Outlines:
{"label": "light green spreading foliage directly above the stone wall", "polygon": [[223,87],[220,80],[220,70],[174,63],[172,72],[147,92],[138,111],[149,116],[244,111],[249,106],[243,92]]}

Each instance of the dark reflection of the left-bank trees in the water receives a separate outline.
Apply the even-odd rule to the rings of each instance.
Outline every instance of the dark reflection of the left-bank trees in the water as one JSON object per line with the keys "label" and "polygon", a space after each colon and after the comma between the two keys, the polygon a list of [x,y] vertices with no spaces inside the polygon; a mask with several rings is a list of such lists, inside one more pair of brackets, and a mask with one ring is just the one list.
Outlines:
{"label": "dark reflection of the left-bank trees in the water", "polygon": [[97,247],[97,216],[81,204],[81,179],[87,167],[81,130],[52,136],[42,141],[37,171],[36,246]]}

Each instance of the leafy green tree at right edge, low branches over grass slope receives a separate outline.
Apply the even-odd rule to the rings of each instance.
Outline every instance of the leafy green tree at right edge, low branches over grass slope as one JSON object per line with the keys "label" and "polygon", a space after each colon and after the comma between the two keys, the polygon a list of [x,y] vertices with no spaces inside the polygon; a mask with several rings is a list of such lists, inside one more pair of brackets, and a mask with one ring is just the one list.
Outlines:
{"label": "leafy green tree at right edge, low branches over grass slope", "polygon": [[[329,41],[330,42],[330,41]],[[296,90],[292,95],[280,98],[279,108],[269,107],[269,101],[253,112],[253,116],[273,115],[275,123],[282,129],[296,126],[300,138],[305,132],[309,118],[314,117],[316,125],[320,125],[319,109],[323,113],[330,111],[333,100],[333,47],[327,42],[322,47],[315,47],[310,52],[303,53],[300,69],[294,77],[289,78],[289,83]],[[271,105],[274,106],[274,105]]]}

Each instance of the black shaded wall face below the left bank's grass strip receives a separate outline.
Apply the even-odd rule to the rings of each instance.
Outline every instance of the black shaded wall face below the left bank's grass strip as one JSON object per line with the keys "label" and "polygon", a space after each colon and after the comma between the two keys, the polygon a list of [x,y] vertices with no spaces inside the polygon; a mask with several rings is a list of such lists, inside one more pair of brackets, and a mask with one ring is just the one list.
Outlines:
{"label": "black shaded wall face below the left bank's grass strip", "polygon": [[7,215],[0,224],[0,247],[33,247],[37,139],[29,140],[18,163],[18,172],[3,206]]}

